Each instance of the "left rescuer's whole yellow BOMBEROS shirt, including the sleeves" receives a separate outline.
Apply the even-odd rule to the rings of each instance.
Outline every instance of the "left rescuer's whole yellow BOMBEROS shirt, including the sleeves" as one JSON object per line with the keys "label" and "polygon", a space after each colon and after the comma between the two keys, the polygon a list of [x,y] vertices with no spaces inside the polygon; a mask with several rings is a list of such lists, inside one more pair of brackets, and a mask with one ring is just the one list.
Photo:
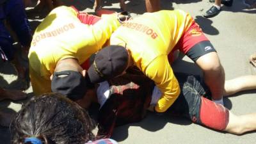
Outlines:
{"label": "left rescuer's whole yellow BOMBEROS shirt, including the sleeves", "polygon": [[[74,8],[60,6],[36,28],[29,50],[29,67],[33,74],[50,80],[56,63],[65,58],[76,58],[81,65],[99,51],[120,26],[116,15],[102,15],[93,25],[81,23],[77,15]],[[40,88],[35,89],[36,94],[41,94]]]}

